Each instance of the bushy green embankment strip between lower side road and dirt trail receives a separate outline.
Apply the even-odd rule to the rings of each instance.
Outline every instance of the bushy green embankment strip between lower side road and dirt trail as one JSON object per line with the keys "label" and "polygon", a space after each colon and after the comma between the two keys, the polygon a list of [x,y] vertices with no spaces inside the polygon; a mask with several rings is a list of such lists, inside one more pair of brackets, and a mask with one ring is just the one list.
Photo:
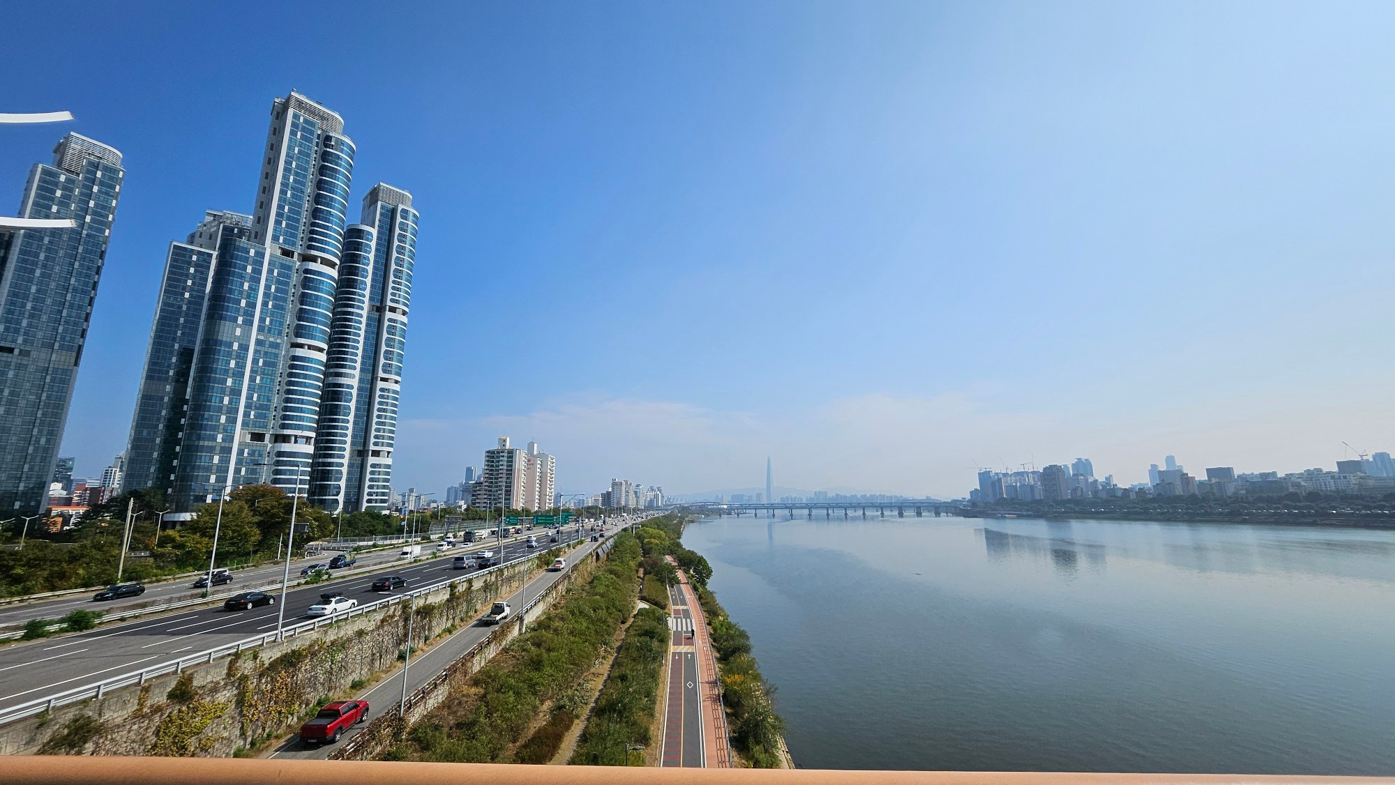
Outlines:
{"label": "bushy green embankment strip between lower side road and dirt trail", "polygon": [[[635,538],[617,535],[605,565],[590,581],[531,622],[529,632],[509,641],[385,757],[451,763],[547,760],[555,752],[550,745],[559,742],[585,711],[585,703],[579,706],[575,700],[573,686],[633,611],[639,561]],[[572,719],[554,711],[533,733],[534,738],[543,733],[537,742],[529,739],[511,753],[548,703]]]}

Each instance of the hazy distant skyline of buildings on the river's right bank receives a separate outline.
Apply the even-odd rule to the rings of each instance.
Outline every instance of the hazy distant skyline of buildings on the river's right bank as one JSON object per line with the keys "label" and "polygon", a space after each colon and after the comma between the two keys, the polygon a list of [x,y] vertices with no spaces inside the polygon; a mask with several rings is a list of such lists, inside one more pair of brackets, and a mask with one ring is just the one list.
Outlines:
{"label": "hazy distant skyline of buildings on the river's right bank", "polygon": [[1057,501],[1151,496],[1264,496],[1289,492],[1395,492],[1395,460],[1389,453],[1374,453],[1367,459],[1339,460],[1336,470],[1307,468],[1279,474],[1278,471],[1236,473],[1229,466],[1214,466],[1205,477],[1189,474],[1176,456],[1166,456],[1162,466],[1148,466],[1148,482],[1120,487],[1113,475],[1096,480],[1089,459],[1043,466],[1039,471],[1023,467],[1018,471],[981,470],[978,488],[970,492],[975,503],[1009,501]]}

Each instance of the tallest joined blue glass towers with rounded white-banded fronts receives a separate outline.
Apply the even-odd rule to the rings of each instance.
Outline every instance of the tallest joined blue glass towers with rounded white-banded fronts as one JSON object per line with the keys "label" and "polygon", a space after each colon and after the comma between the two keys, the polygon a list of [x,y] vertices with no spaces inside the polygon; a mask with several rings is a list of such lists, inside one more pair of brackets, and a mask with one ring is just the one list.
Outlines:
{"label": "tallest joined blue glass towers with rounded white-banded fronts", "polygon": [[180,513],[248,482],[391,505],[416,212],[379,184],[346,226],[353,158],[339,114],[278,98],[251,215],[208,212],[170,244],[127,488]]}

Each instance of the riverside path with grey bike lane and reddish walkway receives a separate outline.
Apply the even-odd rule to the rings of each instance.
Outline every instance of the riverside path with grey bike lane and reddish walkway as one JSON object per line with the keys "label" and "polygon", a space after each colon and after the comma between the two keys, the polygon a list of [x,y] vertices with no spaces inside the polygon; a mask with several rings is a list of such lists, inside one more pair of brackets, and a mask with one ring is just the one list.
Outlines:
{"label": "riverside path with grey bike lane and reddish walkway", "polygon": [[[671,558],[668,561],[672,563]],[[717,660],[698,593],[682,570],[678,570],[678,584],[668,588],[668,598],[672,637],[660,765],[730,768]]]}

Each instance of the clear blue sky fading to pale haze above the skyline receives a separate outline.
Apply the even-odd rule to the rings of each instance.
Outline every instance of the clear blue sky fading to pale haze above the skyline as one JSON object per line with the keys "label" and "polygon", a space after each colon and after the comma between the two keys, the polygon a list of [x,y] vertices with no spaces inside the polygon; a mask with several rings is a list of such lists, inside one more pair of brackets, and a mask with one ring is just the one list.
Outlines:
{"label": "clear blue sky fading to pale haze above the skyline", "polygon": [[[250,209],[272,98],[421,212],[395,484],[494,436],[610,477],[960,495],[1395,449],[1389,4],[6,10],[0,190],[126,156],[64,453],[124,449],[165,248]],[[13,208],[11,208],[13,209]]]}

